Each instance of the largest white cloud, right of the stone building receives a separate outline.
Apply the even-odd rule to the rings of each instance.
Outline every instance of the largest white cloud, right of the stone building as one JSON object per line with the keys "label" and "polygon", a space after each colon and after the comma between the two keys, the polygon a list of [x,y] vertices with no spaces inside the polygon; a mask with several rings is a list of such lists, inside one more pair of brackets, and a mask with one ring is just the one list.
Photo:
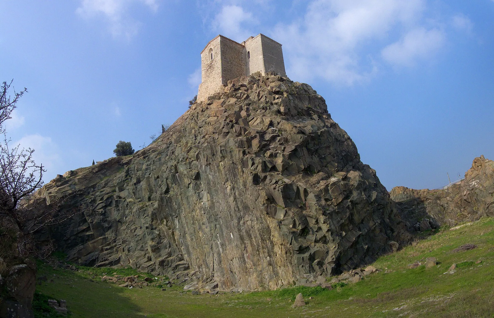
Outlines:
{"label": "largest white cloud, right of the stone building", "polygon": [[423,0],[313,0],[302,19],[272,36],[283,43],[290,76],[352,84],[377,71],[372,49],[387,45],[391,31],[416,27],[424,9]]}

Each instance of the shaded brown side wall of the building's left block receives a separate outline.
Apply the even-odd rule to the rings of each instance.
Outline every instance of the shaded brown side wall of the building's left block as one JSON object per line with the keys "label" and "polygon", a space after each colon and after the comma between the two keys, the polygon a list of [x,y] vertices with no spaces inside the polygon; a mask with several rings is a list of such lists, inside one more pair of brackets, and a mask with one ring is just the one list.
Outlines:
{"label": "shaded brown side wall of the building's left block", "polygon": [[226,38],[220,38],[220,43],[221,80],[226,85],[229,80],[245,75],[244,46]]}

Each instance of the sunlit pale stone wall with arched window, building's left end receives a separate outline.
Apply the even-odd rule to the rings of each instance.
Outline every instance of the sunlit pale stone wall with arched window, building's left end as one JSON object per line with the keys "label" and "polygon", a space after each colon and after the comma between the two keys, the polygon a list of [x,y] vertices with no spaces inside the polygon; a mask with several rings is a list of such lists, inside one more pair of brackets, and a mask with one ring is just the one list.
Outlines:
{"label": "sunlit pale stone wall with arched window, building's left end", "polygon": [[[197,100],[206,100],[212,92],[219,91],[221,81],[221,37],[212,40],[201,54],[201,80]],[[213,48],[213,60],[209,61],[209,48]]]}

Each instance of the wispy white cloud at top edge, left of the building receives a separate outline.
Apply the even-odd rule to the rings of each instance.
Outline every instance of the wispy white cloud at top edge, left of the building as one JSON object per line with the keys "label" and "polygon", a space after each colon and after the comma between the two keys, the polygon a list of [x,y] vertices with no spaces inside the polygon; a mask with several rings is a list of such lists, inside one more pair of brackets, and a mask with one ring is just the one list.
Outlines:
{"label": "wispy white cloud at top edge, left of the building", "polygon": [[108,20],[109,31],[114,37],[130,39],[137,34],[140,25],[129,16],[134,3],[143,3],[152,11],[158,9],[157,0],[81,0],[76,12],[85,18],[103,16]]}

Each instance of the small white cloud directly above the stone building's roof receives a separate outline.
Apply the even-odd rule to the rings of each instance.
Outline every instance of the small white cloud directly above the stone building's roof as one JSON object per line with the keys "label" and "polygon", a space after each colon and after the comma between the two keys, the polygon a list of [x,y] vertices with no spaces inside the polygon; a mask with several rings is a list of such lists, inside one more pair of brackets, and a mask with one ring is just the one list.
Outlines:
{"label": "small white cloud directly above the stone building's roof", "polygon": [[246,12],[238,5],[225,5],[216,14],[213,22],[213,31],[219,31],[225,37],[242,42],[250,36],[247,24],[256,24],[252,13]]}

